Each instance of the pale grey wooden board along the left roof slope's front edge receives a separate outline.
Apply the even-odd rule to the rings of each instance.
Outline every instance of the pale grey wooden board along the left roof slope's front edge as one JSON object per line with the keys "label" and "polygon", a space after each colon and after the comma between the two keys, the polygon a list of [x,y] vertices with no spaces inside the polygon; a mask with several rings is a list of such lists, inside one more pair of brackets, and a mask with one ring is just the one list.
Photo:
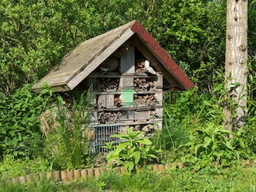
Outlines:
{"label": "pale grey wooden board along the left roof slope's front edge", "polygon": [[106,47],[106,49],[103,50],[103,52],[98,55],[98,57],[95,57],[94,60],[91,61],[84,70],[74,76],[74,78],[72,78],[70,82],[67,83],[67,86],[70,87],[70,90],[73,90],[74,87],[79,84],[79,82],[82,82],[82,80],[85,79],[88,74],[95,70],[104,60],[106,60],[106,58],[110,57],[110,55],[113,54],[119,46],[122,46],[123,42],[126,42],[126,40],[129,39],[133,34],[134,32],[128,29],[118,39],[112,42],[110,46]]}

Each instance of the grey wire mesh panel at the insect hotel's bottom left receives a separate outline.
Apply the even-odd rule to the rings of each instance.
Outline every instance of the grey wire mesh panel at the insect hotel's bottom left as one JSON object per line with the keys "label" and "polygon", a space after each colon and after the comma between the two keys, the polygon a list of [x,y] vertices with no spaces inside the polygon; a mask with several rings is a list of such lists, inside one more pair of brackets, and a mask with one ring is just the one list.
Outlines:
{"label": "grey wire mesh panel at the insect hotel's bottom left", "polygon": [[90,128],[94,131],[94,139],[91,141],[92,151],[94,154],[106,152],[102,146],[106,145],[106,142],[114,142],[114,145],[120,143],[120,138],[111,138],[112,134],[119,134],[121,130],[121,124],[112,125],[98,125]]}

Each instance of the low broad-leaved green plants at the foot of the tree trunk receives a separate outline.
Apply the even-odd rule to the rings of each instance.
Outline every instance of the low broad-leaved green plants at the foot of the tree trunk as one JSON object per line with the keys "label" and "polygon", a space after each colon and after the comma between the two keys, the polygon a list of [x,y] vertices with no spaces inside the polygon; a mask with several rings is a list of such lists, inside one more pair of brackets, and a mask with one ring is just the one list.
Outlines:
{"label": "low broad-leaved green plants at the foot of the tree trunk", "polygon": [[242,129],[232,132],[212,122],[202,124],[190,134],[190,142],[180,146],[178,156],[194,170],[231,166],[253,154],[242,138]]}

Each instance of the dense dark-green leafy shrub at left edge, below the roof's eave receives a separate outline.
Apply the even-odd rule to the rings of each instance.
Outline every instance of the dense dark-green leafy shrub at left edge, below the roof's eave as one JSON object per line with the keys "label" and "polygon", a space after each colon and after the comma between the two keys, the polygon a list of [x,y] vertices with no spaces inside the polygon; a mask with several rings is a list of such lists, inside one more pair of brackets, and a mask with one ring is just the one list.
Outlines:
{"label": "dense dark-green leafy shrub at left edge, below the roof's eave", "polygon": [[0,156],[34,157],[42,150],[39,116],[50,101],[51,92],[32,92],[26,85],[14,94],[0,94]]}

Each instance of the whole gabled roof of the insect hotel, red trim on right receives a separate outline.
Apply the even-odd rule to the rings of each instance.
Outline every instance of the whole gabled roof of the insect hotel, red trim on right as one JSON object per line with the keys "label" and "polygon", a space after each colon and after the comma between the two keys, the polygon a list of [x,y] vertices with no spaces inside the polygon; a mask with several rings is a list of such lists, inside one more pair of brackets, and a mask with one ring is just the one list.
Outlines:
{"label": "whole gabled roof of the insect hotel, red trim on right", "polygon": [[133,21],[79,44],[62,59],[58,66],[54,66],[49,74],[35,84],[33,89],[42,90],[44,84],[47,83],[54,91],[74,90],[83,79],[134,35],[140,41],[139,43],[146,46],[150,54],[161,63],[160,68],[164,70],[161,72],[167,82],[176,82],[176,86],[183,90],[188,90],[193,86],[166,50],[138,21]]}

